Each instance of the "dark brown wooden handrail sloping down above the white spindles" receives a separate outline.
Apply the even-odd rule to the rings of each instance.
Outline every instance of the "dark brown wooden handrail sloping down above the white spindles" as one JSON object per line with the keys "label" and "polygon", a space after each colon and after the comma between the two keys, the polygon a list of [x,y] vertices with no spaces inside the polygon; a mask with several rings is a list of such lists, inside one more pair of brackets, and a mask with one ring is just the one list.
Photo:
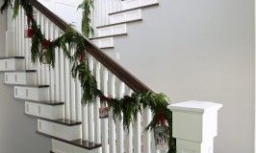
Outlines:
{"label": "dark brown wooden handrail sloping down above the white spindles", "polygon": [[[38,11],[42,12],[48,19],[55,23],[61,30],[65,31],[67,23],[63,19],[58,17],[52,11],[49,11],[37,0],[28,0],[31,5],[37,8]],[[101,49],[93,45],[90,40],[84,37],[87,42],[87,49],[90,55],[97,59],[102,65],[110,70],[115,76],[122,80],[127,86],[137,93],[144,93],[152,90],[141,82],[136,76],[133,76],[130,72],[124,69],[120,64],[115,62],[109,55],[102,52]]]}

